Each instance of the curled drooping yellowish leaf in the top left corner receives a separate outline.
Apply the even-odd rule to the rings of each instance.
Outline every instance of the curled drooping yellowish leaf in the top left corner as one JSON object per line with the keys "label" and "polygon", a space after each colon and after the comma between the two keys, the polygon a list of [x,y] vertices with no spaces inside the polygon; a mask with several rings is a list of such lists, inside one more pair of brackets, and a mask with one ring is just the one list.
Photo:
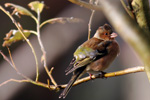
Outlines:
{"label": "curled drooping yellowish leaf in the top left corner", "polygon": [[22,6],[19,6],[19,5],[16,5],[16,4],[13,4],[13,3],[5,3],[5,7],[11,7],[13,10],[12,12],[12,15],[17,15],[18,17],[19,14],[20,15],[26,15],[26,16],[33,16],[33,14],[27,10],[26,8],[22,7]]}

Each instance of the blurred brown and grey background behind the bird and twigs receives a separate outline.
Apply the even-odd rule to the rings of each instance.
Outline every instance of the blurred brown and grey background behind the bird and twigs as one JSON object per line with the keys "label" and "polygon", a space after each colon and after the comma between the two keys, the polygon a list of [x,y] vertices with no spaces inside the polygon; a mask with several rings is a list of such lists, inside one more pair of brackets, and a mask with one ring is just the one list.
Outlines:
{"label": "blurred brown and grey background behind the bird and twigs", "polygon": [[[0,5],[4,7],[6,2],[28,8],[27,4],[31,0],[0,0]],[[48,67],[54,67],[52,75],[58,84],[66,84],[71,75],[66,76],[64,71],[72,59],[73,52],[80,44],[87,40],[88,21],[91,10],[72,4],[67,0],[44,0],[44,3],[49,9],[44,9],[42,12],[41,22],[54,17],[76,17],[84,20],[82,23],[47,24],[41,30],[42,41],[47,52]],[[124,11],[120,0],[114,0],[112,4]],[[7,8],[7,10],[10,9]],[[36,29],[36,24],[30,17],[22,16],[21,19],[15,18],[24,29]],[[95,30],[105,23],[109,22],[105,19],[103,13],[96,12],[92,21],[92,36]],[[10,29],[16,29],[16,27],[8,16],[0,11],[0,44],[3,43],[3,38]],[[38,56],[40,67],[39,80],[46,83],[48,76],[40,63],[42,53],[37,38],[31,35],[29,40],[33,44]],[[121,37],[118,36],[117,41],[120,45],[120,55],[106,72],[143,65],[140,58]],[[27,43],[24,41],[14,43],[10,46],[10,49],[14,62],[20,72],[35,79],[35,60]],[[0,50],[8,55],[6,48],[0,46]],[[0,83],[11,78],[22,79],[0,56]],[[150,100],[149,86],[145,72],[114,78],[96,79],[73,87],[66,100]],[[0,87],[0,100],[59,100],[58,96],[60,93],[61,91],[50,91],[31,83],[10,82]]]}

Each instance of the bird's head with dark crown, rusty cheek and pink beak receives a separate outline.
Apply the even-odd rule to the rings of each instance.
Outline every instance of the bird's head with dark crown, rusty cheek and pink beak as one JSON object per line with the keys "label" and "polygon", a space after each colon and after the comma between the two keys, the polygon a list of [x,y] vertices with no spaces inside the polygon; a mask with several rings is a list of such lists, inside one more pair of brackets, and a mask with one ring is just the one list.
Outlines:
{"label": "bird's head with dark crown, rusty cheek and pink beak", "polygon": [[117,34],[112,31],[110,25],[104,24],[97,29],[94,37],[102,40],[114,40]]}

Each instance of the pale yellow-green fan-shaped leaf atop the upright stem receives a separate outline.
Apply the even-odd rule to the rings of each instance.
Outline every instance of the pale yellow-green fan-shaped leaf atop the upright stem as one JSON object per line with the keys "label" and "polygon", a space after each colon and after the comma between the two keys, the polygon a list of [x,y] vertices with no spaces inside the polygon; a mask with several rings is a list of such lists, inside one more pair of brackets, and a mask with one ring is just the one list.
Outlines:
{"label": "pale yellow-green fan-shaped leaf atop the upright stem", "polygon": [[43,11],[43,8],[44,8],[45,5],[42,2],[33,1],[33,2],[30,2],[28,4],[28,6],[31,8],[31,10],[35,11],[36,13],[38,13],[38,10],[41,13]]}

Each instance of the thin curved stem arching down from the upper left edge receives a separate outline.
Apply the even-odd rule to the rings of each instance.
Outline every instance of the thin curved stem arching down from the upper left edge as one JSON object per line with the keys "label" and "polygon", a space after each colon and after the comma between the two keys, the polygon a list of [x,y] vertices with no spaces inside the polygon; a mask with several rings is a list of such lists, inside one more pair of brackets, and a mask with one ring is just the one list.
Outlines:
{"label": "thin curved stem arching down from the upper left edge", "polygon": [[[0,9],[6,14],[8,15],[8,17],[12,20],[12,22],[15,24],[15,26],[17,27],[17,29],[19,30],[19,32],[21,33],[21,35],[23,36],[23,38],[25,39],[25,41],[28,43],[28,45],[30,46],[31,50],[32,50],[32,53],[34,55],[34,58],[35,58],[35,63],[36,63],[36,68],[38,68],[38,60],[37,60],[37,56],[36,56],[36,53],[35,53],[35,50],[32,46],[32,44],[30,43],[30,41],[25,37],[25,35],[23,34],[21,28],[18,26],[18,23],[15,21],[15,19],[10,15],[9,12],[7,12],[2,6],[0,6]],[[37,72],[39,73],[39,72]],[[39,76],[39,74],[38,74]],[[38,77],[37,76],[37,77]]]}

